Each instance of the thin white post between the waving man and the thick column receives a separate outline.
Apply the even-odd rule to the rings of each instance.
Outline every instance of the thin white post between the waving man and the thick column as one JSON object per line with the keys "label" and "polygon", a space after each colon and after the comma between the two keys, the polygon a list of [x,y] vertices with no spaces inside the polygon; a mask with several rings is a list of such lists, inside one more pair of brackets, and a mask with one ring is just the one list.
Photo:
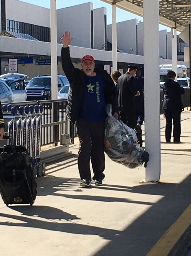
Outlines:
{"label": "thin white post between the waving man and the thick column", "polygon": [[113,71],[117,70],[117,24],[116,24],[116,4],[112,4],[112,61]]}

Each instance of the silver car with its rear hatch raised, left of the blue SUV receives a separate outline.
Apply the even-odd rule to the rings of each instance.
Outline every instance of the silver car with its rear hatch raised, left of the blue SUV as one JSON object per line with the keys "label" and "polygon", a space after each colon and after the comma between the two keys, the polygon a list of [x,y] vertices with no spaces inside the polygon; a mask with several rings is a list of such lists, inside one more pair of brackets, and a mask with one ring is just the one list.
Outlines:
{"label": "silver car with its rear hatch raised, left of the blue SUV", "polygon": [[0,78],[13,91],[13,102],[26,101],[26,91],[24,87],[24,80],[16,78]]}

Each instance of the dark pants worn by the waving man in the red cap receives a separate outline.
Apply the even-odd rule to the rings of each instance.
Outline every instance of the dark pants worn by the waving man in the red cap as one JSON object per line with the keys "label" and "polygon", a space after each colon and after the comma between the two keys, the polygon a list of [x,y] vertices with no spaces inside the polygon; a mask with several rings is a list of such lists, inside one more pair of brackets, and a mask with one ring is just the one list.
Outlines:
{"label": "dark pants worn by the waving man in the red cap", "polygon": [[94,172],[94,180],[102,180],[105,169],[104,155],[104,122],[86,122],[79,118],[77,121],[79,137],[78,170],[81,180],[91,181],[90,159]]}

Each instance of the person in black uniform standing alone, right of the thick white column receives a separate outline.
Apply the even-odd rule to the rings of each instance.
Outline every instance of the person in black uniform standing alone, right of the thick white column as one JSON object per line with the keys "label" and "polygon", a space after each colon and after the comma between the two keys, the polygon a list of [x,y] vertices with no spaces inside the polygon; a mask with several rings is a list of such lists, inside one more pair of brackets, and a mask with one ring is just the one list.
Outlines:
{"label": "person in black uniform standing alone, right of the thick white column", "polygon": [[173,142],[180,142],[180,113],[182,110],[181,94],[185,93],[185,89],[175,82],[176,73],[168,71],[168,81],[163,84],[164,100],[163,110],[166,118],[165,139],[166,142],[171,142],[172,120],[173,120]]}

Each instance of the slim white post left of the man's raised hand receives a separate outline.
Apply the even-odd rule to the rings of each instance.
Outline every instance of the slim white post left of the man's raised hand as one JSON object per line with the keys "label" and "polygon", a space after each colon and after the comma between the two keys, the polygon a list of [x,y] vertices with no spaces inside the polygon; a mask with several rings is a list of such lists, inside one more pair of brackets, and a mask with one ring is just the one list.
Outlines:
{"label": "slim white post left of the man's raised hand", "polygon": [[51,42],[51,92],[52,99],[58,97],[57,66],[57,0],[50,0],[50,42]]}

